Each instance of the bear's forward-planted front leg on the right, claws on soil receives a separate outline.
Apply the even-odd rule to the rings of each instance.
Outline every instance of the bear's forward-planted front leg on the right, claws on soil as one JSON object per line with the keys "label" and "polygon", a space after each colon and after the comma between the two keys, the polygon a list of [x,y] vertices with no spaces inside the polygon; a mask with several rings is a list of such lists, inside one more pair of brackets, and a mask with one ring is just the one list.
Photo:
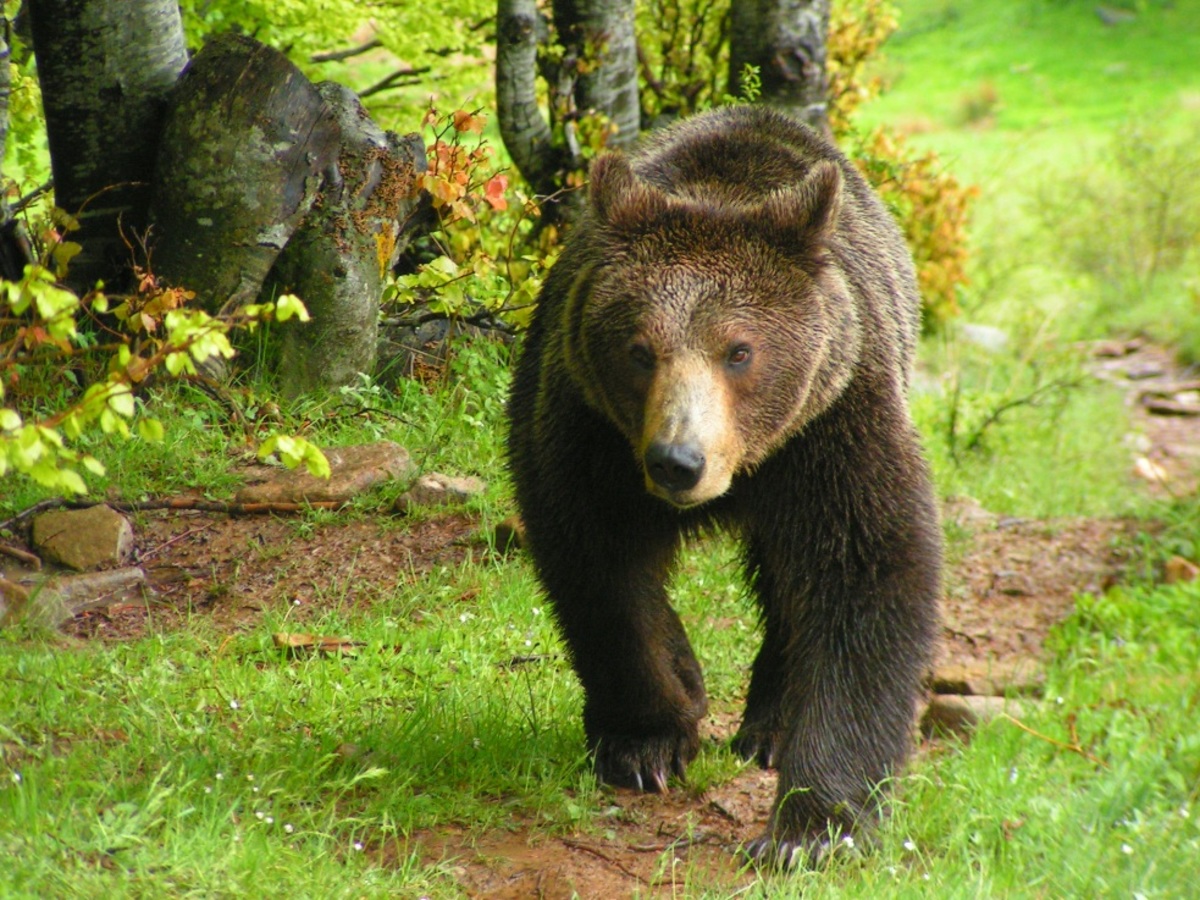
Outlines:
{"label": "bear's forward-planted front leg on the right, claws on soil", "polygon": [[[766,637],[734,746],[779,767],[770,829],[746,848],[772,864],[818,857],[830,832],[877,817],[878,787],[911,746],[936,631],[940,528],[916,450],[914,468],[896,473],[856,460],[853,436],[826,442],[846,455],[764,467],[776,497],[787,494],[780,484],[805,487],[749,526]],[[863,479],[865,493],[847,487]],[[763,503],[756,498],[758,514]]]}

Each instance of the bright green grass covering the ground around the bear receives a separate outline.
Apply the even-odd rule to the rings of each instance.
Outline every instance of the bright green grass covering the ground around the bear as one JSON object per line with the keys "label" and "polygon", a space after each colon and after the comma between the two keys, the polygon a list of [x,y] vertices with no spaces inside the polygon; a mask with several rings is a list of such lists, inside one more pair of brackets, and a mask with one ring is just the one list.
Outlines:
{"label": "bright green grass covering the ground around the bear", "polygon": [[[672,895],[1200,895],[1200,582],[1153,577],[1166,554],[1200,553],[1200,505],[1135,487],[1123,398],[1078,346],[1147,335],[1200,359],[1200,5],[1124,4],[1133,18],[1115,25],[1082,0],[896,5],[892,86],[863,121],[982,188],[961,322],[928,338],[913,401],[940,492],[1008,516],[1164,524],[1134,547],[1144,575],[1079,598],[1055,630],[1026,728],[997,720],[917,758],[872,852],[736,894],[696,874]],[[1126,166],[1134,139],[1145,154]],[[1151,176],[1176,187],[1147,210]],[[1164,220],[1174,230],[1126,254]],[[472,509],[486,532],[514,511],[508,350],[464,347],[455,365],[440,385],[364,384],[282,415],[319,444],[386,438],[422,468],[482,475]],[[228,497],[248,451],[223,407],[187,386],[161,403],[161,444],[92,439],[108,466],[96,493]],[[389,491],[338,515],[374,516]],[[7,479],[0,518],[41,496]],[[719,540],[692,550],[676,587],[724,710],[756,647],[733,559]],[[472,554],[367,611],[329,590],[305,630],[352,635],[353,659],[281,655],[287,612],[235,634],[197,613],[107,646],[0,631],[0,898],[456,898],[452,860],[422,862],[414,833],[604,833],[581,694],[527,560]],[[540,664],[508,665],[529,656]],[[692,784],[737,770],[708,745]]]}

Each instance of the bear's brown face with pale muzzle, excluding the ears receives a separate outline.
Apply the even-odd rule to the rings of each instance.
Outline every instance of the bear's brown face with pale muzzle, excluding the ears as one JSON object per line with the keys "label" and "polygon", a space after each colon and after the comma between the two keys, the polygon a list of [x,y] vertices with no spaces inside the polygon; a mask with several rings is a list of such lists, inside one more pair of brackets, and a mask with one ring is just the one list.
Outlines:
{"label": "bear's brown face with pale muzzle, excluding the ears", "polygon": [[838,302],[762,241],[703,244],[630,246],[569,304],[578,383],[625,433],[647,491],[679,508],[724,494],[828,406],[814,385]]}

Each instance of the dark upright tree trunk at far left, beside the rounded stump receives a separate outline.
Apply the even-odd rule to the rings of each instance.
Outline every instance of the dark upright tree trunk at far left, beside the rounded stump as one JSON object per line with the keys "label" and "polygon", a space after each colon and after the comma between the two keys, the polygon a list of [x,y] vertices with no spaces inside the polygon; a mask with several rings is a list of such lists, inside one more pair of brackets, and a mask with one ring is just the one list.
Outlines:
{"label": "dark upright tree trunk at far left, beside the rounded stump", "polygon": [[167,94],[187,62],[176,0],[28,0],[55,203],[79,220],[68,283],[119,281],[145,228]]}

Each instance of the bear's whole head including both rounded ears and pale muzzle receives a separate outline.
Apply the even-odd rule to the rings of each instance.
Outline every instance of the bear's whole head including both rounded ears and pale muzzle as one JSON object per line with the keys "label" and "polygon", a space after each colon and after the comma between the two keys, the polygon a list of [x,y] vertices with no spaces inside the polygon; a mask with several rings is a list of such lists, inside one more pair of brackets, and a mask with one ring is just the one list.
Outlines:
{"label": "bear's whole head including both rounded ears and pale muzzle", "polygon": [[592,168],[566,365],[679,508],[728,491],[827,409],[859,354],[839,264],[842,175],[667,190],[619,154]]}

